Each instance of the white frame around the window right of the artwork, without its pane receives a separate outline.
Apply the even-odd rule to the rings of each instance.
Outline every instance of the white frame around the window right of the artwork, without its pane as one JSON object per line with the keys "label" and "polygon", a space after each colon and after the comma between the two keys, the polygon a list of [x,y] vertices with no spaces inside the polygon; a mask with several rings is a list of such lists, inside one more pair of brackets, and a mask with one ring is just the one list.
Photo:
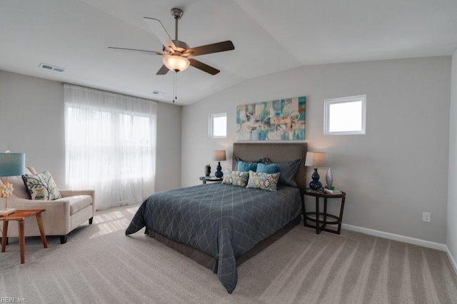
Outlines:
{"label": "white frame around the window right of the artwork, without its pane", "polygon": [[[361,130],[357,131],[330,131],[330,106],[338,103],[362,102]],[[366,134],[366,95],[331,98],[323,101],[323,135],[363,135]]]}

